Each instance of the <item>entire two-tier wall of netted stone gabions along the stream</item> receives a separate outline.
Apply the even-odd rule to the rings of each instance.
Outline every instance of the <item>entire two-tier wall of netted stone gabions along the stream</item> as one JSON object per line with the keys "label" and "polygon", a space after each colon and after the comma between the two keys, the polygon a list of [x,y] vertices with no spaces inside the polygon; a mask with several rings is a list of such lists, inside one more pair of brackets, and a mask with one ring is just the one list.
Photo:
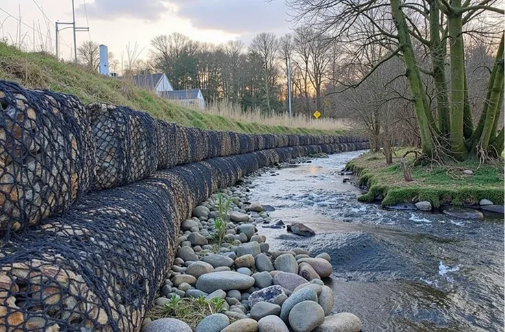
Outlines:
{"label": "entire two-tier wall of netted stone gabions along the stream", "polygon": [[0,331],[139,331],[194,206],[261,167],[368,147],[86,111],[9,82],[0,102]]}

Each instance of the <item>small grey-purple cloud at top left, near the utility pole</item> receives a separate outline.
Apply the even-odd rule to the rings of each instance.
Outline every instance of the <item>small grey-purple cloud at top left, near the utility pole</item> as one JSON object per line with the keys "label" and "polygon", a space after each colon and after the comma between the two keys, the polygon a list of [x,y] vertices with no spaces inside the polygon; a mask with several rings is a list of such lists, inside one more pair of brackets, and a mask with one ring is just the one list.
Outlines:
{"label": "small grey-purple cloud at top left, near the utility pole", "polygon": [[133,19],[158,20],[170,10],[167,0],[95,0],[84,8],[80,5],[77,11],[95,19]]}

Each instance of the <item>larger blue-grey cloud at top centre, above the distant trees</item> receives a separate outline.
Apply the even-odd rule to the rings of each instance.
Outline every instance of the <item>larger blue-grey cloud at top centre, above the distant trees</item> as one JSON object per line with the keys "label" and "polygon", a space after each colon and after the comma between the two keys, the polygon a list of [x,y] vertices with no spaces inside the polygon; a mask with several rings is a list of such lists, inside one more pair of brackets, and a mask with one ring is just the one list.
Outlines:
{"label": "larger blue-grey cloud at top centre, above the distant trees", "polygon": [[198,29],[256,34],[290,27],[283,0],[172,0],[176,14]]}

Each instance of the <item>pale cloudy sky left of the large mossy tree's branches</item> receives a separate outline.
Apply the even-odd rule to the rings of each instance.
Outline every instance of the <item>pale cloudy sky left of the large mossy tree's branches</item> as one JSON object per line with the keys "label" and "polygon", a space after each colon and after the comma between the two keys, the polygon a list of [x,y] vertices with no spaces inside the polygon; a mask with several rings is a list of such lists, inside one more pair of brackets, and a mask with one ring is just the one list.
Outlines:
{"label": "pale cloudy sky left of the large mossy tree's branches", "polygon": [[[240,39],[247,45],[259,32],[281,36],[292,26],[283,0],[75,0],[75,14],[78,26],[90,27],[89,33],[78,32],[78,45],[91,38],[107,45],[117,58],[128,44],[133,47],[135,43],[143,49],[141,58],[147,57],[150,40],[159,34],[180,32],[209,43]],[[71,0],[0,1],[0,38],[10,43],[23,40],[29,50],[34,39],[35,45],[54,50],[56,21],[72,21]],[[60,36],[60,56],[68,59],[73,45],[71,29]]]}

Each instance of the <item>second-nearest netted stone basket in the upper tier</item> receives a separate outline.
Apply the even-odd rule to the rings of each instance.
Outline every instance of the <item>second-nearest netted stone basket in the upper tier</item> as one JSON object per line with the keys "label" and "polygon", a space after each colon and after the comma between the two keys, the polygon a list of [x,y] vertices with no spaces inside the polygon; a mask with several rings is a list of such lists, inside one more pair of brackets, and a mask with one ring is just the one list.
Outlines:
{"label": "second-nearest netted stone basket in the upper tier", "polygon": [[86,106],[96,141],[93,189],[108,189],[146,178],[158,168],[158,130],[145,112],[126,106]]}

